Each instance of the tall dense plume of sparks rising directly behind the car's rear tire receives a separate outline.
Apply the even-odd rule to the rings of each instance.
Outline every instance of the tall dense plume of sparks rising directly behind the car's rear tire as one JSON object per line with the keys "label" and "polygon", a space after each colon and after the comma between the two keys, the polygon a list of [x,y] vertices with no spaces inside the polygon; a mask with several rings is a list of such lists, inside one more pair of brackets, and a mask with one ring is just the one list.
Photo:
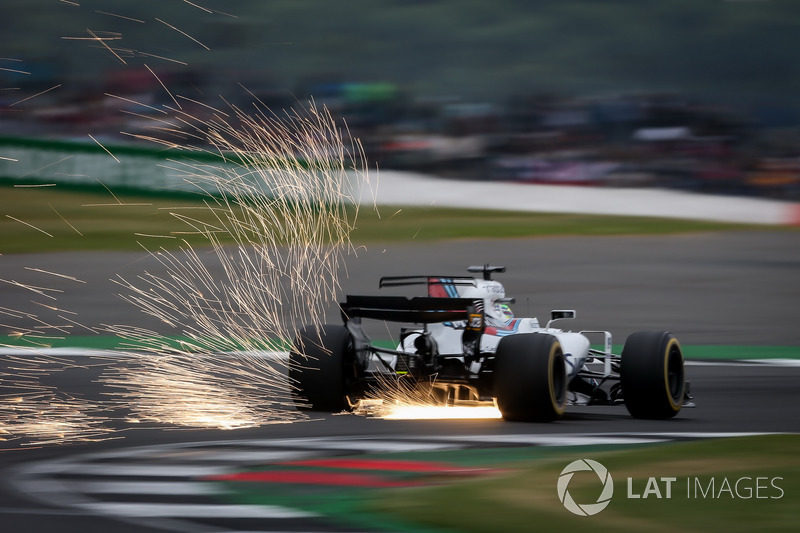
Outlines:
{"label": "tall dense plume of sparks rising directly behind the car's rear tire", "polygon": [[230,428],[303,419],[285,358],[274,354],[295,324],[319,323],[336,298],[351,248],[353,173],[366,179],[363,152],[358,143],[345,149],[331,116],[316,108],[280,117],[232,108],[207,121],[172,111],[228,163],[172,166],[207,197],[211,219],[176,210],[187,230],[169,233],[202,235],[211,254],[184,241],[177,252],[151,251],[165,273],[115,281],[123,299],[191,340],[176,348],[154,332],[113,327],[135,347],[134,363],[105,383],[139,421]]}

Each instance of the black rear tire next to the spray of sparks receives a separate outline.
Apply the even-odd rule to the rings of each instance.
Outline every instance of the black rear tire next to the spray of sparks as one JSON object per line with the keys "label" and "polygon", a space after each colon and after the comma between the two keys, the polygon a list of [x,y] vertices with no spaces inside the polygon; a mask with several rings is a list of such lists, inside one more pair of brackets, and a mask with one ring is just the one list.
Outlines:
{"label": "black rear tire next to the spray of sparks", "polygon": [[347,409],[347,370],[353,359],[353,341],[344,326],[303,328],[289,351],[289,381],[297,408],[326,413]]}

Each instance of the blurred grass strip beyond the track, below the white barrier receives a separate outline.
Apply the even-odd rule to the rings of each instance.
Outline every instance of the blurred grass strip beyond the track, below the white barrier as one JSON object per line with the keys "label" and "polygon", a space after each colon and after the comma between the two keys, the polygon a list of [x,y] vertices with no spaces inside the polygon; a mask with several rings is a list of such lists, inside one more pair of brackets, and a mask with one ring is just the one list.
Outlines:
{"label": "blurred grass strip beyond the track, below the white barrier", "polygon": [[[201,197],[112,194],[65,187],[0,185],[0,253],[68,250],[175,248],[192,228],[172,213],[213,221]],[[380,213],[380,214],[379,214]],[[447,239],[567,235],[665,235],[704,231],[763,229],[761,226],[644,217],[520,213],[449,208],[363,207],[355,219],[355,243],[424,242]],[[224,235],[222,242],[231,242]]]}

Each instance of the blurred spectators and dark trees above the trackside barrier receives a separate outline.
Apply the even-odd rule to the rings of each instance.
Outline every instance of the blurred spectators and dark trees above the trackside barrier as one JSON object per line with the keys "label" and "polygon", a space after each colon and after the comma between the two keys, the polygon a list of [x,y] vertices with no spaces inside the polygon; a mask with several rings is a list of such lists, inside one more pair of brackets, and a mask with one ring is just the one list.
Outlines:
{"label": "blurred spectators and dark trees above the trackside barrier", "polygon": [[5,0],[3,12],[0,150],[87,134],[186,145],[174,124],[154,128],[164,109],[202,120],[313,99],[384,169],[800,196],[791,0]]}

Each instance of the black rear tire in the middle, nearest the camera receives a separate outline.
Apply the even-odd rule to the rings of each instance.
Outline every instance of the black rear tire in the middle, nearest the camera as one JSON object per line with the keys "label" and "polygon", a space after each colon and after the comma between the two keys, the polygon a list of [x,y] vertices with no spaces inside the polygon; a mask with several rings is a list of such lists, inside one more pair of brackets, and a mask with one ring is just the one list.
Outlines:
{"label": "black rear tire in the middle, nearest the camera", "polygon": [[497,345],[494,395],[505,420],[550,422],[564,414],[567,370],[553,335],[523,333]]}

